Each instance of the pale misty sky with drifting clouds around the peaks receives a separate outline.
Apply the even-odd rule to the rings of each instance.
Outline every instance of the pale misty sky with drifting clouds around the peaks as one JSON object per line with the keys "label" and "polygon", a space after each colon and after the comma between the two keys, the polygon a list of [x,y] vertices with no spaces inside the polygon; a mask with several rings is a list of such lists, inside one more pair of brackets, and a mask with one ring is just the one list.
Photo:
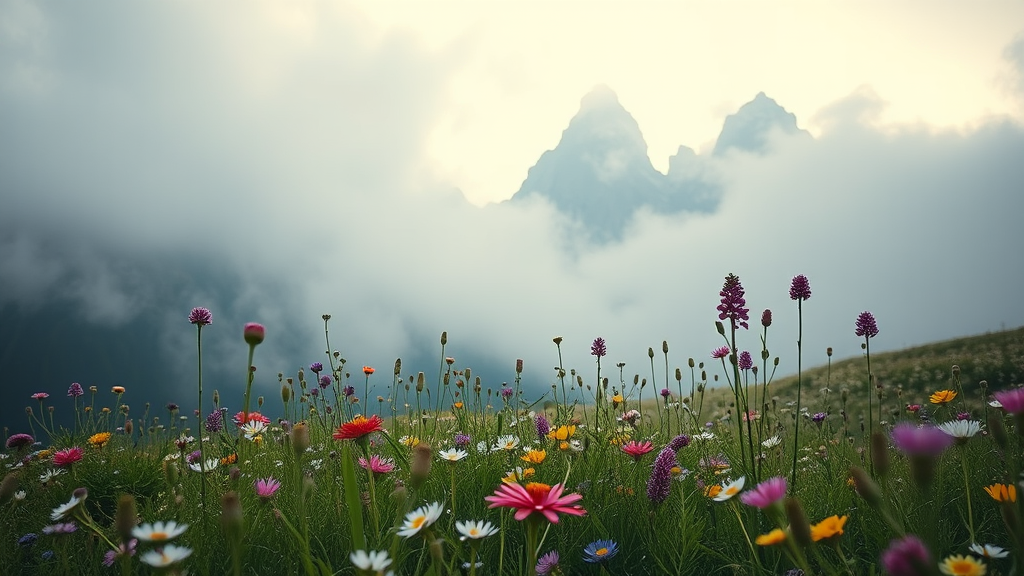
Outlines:
{"label": "pale misty sky with drifting clouds around the peaks", "polygon": [[[1019,326],[1022,33],[1020,2],[0,0],[0,306],[128,322],[166,305],[131,262],[202,258],[247,320],[308,319],[292,367],[331,313],[353,364],[449,330],[538,386],[556,335],[566,366],[599,335],[637,370],[663,339],[707,356],[730,272],[790,370],[796,274],[812,363],[859,354],[863,310],[880,348]],[[540,201],[480,208],[596,84],[663,170],[759,91],[815,138],[712,162],[718,212],[641,213],[620,244]]]}

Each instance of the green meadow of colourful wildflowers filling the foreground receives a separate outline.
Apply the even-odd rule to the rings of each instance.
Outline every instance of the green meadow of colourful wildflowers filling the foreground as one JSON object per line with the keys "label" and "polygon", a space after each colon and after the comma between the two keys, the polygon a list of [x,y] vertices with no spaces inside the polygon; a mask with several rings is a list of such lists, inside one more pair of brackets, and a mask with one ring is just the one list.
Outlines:
{"label": "green meadow of colourful wildflowers filling the foreground", "polygon": [[[0,574],[1021,574],[1024,388],[984,363],[972,377],[999,385],[958,365],[883,381],[870,312],[850,319],[862,358],[834,380],[829,349],[805,373],[811,284],[788,288],[784,385],[773,311],[752,319],[729,275],[709,311],[719,347],[679,362],[663,342],[627,377],[602,337],[555,337],[539,398],[522,360],[485,387],[446,333],[423,371],[314,354],[254,397],[273,334],[257,323],[241,327],[245,394],[225,398],[204,387],[215,317],[197,307],[178,404],[135,417],[132,389],[52,384],[3,423]],[[593,364],[561,366],[569,345]]]}

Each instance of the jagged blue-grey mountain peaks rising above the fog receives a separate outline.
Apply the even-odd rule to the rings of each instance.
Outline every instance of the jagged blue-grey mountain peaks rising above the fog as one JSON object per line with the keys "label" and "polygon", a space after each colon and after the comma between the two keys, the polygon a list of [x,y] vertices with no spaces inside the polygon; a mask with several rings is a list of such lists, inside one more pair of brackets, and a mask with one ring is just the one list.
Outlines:
{"label": "jagged blue-grey mountain peaks rising above the fog", "polygon": [[[796,116],[761,92],[726,118],[712,156],[730,150],[765,153],[773,130],[801,132]],[[610,88],[597,86],[583,97],[558,145],[541,155],[509,202],[544,197],[583,224],[592,240],[617,241],[644,206],[665,214],[714,211],[721,189],[707,161],[681,146],[669,160],[669,173],[658,172],[636,120]]]}

